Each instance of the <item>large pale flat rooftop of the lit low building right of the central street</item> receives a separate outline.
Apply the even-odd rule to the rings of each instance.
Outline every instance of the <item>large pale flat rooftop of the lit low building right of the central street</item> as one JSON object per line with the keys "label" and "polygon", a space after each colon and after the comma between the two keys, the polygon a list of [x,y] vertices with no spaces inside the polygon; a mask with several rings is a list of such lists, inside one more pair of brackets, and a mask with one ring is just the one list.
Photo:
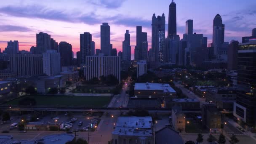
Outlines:
{"label": "large pale flat rooftop of the lit low building right of the central street", "polygon": [[167,83],[135,83],[134,90],[162,90],[165,93],[176,93]]}

